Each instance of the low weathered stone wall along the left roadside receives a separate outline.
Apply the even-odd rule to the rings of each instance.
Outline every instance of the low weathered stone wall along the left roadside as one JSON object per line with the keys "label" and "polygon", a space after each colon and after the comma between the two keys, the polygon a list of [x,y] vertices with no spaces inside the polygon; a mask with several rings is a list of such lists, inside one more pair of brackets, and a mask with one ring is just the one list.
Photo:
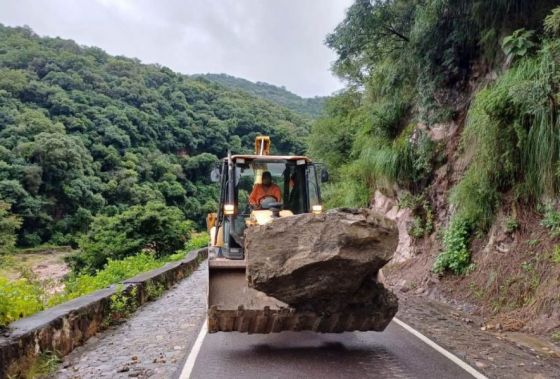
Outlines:
{"label": "low weathered stone wall along the left roadside", "polygon": [[149,284],[168,289],[194,271],[207,256],[206,248],[191,251],[181,261],[13,322],[8,333],[0,336],[0,378],[18,377],[42,352],[66,355],[82,345],[102,330],[111,317],[111,296],[115,293],[135,293],[136,304],[142,305],[149,298]]}

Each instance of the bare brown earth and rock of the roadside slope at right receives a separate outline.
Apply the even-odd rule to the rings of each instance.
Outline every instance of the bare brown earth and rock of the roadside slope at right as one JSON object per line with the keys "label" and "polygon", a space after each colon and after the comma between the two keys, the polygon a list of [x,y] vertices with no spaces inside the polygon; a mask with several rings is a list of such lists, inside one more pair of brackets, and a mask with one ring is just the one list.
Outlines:
{"label": "bare brown earth and rock of the roadside slope at right", "polygon": [[376,193],[373,208],[396,221],[401,241],[384,269],[387,280],[397,293],[427,295],[480,317],[484,330],[529,333],[560,344],[560,238],[541,225],[534,206],[506,194],[490,231],[471,241],[474,269],[463,276],[432,272],[453,212],[450,190],[470,161],[469,151],[459,149],[463,126],[464,117],[447,126],[447,135],[432,136],[444,145],[446,163],[427,189],[435,224],[430,236],[410,237],[411,214],[393,196]]}

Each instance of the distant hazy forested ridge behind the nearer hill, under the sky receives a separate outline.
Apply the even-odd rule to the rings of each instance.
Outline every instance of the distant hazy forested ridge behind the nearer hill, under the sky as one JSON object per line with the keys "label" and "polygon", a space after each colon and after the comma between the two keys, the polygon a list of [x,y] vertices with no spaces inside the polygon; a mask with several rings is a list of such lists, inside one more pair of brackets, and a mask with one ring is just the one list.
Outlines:
{"label": "distant hazy forested ridge behind the nearer hill, under the sky", "polygon": [[277,87],[272,84],[256,82],[236,78],[227,74],[204,74],[196,77],[206,78],[212,82],[220,83],[226,87],[238,89],[255,96],[268,99],[276,104],[291,109],[294,112],[316,118],[323,110],[327,97],[303,98],[292,93],[284,87]]}

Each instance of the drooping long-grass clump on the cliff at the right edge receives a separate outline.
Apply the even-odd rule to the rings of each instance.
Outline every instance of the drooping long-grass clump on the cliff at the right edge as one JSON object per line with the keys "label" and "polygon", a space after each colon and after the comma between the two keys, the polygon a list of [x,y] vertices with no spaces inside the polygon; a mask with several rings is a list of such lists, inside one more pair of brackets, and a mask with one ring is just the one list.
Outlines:
{"label": "drooping long-grass clump on the cliff at the right edge", "polygon": [[517,184],[518,195],[536,199],[559,186],[560,152],[556,88],[560,71],[556,41],[536,57],[520,60],[481,91],[469,111],[465,145],[477,146],[473,170],[496,189]]}

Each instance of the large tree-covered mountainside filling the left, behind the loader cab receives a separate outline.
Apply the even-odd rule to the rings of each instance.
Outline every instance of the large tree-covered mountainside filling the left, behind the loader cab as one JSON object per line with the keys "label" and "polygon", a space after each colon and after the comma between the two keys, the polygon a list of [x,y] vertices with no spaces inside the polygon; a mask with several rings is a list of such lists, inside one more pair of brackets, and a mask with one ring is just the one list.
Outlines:
{"label": "large tree-covered mountainside filling the left, behind the loader cab", "polygon": [[0,25],[0,226],[19,246],[73,243],[96,217],[125,224],[145,206],[202,225],[217,157],[252,151],[258,134],[303,153],[308,128],[217,83]]}

